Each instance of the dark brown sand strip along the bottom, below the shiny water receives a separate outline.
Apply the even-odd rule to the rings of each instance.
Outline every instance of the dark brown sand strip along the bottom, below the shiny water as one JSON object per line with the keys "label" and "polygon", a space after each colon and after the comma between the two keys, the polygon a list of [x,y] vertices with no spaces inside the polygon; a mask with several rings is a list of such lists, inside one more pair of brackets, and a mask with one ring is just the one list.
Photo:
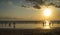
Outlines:
{"label": "dark brown sand strip along the bottom, below the shiny water", "polygon": [[60,29],[0,29],[0,35],[60,35]]}

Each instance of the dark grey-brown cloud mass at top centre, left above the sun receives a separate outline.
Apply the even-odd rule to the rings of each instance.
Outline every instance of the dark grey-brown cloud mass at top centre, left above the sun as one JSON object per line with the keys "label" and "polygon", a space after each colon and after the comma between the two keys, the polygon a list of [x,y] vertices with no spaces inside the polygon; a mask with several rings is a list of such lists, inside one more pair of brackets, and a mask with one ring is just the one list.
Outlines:
{"label": "dark grey-brown cloud mass at top centre, left above the sun", "polygon": [[26,0],[26,2],[31,3],[32,7],[35,9],[41,9],[40,5],[44,3],[43,0]]}

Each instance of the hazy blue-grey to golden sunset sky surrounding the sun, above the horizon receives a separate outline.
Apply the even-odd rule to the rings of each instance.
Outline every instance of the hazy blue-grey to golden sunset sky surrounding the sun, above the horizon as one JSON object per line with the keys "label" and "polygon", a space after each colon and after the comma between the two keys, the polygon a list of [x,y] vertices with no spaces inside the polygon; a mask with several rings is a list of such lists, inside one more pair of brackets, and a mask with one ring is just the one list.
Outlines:
{"label": "hazy blue-grey to golden sunset sky surrounding the sun, above the horizon", "polygon": [[[45,3],[53,2],[55,5],[60,5],[59,0],[48,0]],[[25,5],[25,6],[23,6]],[[42,20],[44,5],[41,9],[33,7],[34,4],[25,0],[0,0],[0,17],[22,18],[23,20]],[[60,8],[48,6],[52,9],[52,15],[49,16],[52,20],[60,20]]]}

